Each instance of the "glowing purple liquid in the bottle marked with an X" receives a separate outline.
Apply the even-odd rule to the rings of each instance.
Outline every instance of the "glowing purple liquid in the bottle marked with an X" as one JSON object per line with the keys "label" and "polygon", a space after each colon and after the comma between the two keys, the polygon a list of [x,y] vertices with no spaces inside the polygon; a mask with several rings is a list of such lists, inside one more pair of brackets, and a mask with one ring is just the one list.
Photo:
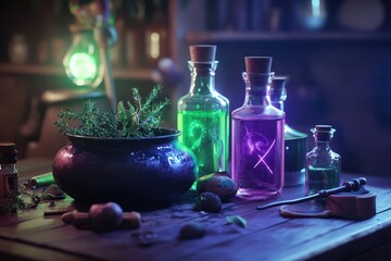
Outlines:
{"label": "glowing purple liquid in the bottle marked with an X", "polygon": [[232,119],[232,178],[244,199],[270,199],[283,186],[283,119]]}

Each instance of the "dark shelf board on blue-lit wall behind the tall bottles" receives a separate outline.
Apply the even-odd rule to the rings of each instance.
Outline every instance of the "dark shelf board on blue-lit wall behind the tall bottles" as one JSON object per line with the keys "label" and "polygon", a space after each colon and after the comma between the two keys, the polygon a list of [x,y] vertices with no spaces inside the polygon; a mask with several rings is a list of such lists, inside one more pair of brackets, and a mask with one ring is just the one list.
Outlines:
{"label": "dark shelf board on blue-lit wall behind the tall bottles", "polygon": [[343,32],[193,32],[186,35],[188,44],[200,41],[390,41],[386,33],[343,33]]}

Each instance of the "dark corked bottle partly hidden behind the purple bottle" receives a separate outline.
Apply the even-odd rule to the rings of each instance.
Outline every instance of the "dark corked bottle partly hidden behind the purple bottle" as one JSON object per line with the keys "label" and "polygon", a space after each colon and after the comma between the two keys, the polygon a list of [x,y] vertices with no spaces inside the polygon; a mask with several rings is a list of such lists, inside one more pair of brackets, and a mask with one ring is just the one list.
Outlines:
{"label": "dark corked bottle partly hidden behind the purple bottle", "polygon": [[[283,111],[283,102],[287,99],[287,77],[273,78],[270,100],[272,104]],[[291,128],[285,124],[285,182],[283,186],[297,186],[304,184],[305,179],[305,154],[307,152],[308,135]]]}

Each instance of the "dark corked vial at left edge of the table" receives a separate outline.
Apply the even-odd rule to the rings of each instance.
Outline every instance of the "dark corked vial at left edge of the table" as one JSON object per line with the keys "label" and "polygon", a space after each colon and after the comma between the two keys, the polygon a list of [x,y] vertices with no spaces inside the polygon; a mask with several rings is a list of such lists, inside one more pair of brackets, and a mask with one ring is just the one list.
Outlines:
{"label": "dark corked vial at left edge of the table", "polygon": [[16,154],[15,144],[0,144],[0,198],[11,197],[18,192]]}

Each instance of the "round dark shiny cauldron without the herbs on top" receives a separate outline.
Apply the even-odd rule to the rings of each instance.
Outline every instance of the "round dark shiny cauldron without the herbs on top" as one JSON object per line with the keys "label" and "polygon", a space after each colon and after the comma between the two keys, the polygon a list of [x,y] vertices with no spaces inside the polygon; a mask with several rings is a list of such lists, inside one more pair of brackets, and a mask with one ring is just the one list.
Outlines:
{"label": "round dark shiny cauldron without the herbs on top", "polygon": [[76,202],[114,201],[133,209],[169,204],[194,182],[194,157],[180,132],[159,128],[146,138],[68,136],[53,160],[58,186]]}

